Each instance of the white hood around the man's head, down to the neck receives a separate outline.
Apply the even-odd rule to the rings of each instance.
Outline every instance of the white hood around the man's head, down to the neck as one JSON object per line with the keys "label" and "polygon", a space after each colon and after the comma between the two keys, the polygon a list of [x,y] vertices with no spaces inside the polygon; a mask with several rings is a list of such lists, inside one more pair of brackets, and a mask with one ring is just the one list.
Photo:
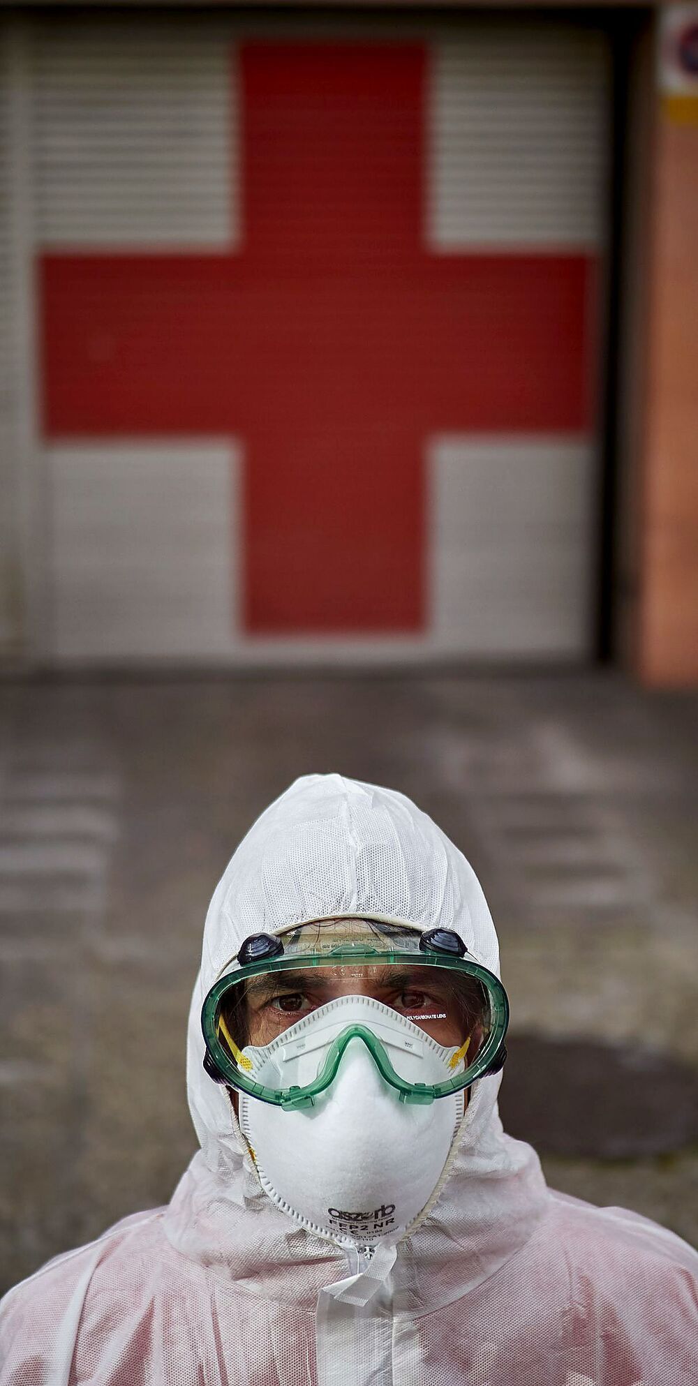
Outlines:
{"label": "white hood around the man's head, down to the neck", "polygon": [[244,938],[338,915],[451,929],[468,954],[499,976],[497,936],[482,887],[427,814],[403,794],[341,775],[298,779],[240,844],[206,915],[187,1042],[188,1102],[201,1153],[173,1198],[168,1236],[224,1279],[277,1301],[309,1307],[328,1290],[334,1299],[364,1303],[389,1278],[395,1307],[425,1311],[451,1303],[497,1270],[546,1210],[535,1152],[501,1130],[501,1074],[475,1084],[435,1206],[400,1242],[396,1258],[395,1252],[377,1256],[364,1267],[298,1228],[267,1199],[229,1095],[202,1067],[204,998]]}

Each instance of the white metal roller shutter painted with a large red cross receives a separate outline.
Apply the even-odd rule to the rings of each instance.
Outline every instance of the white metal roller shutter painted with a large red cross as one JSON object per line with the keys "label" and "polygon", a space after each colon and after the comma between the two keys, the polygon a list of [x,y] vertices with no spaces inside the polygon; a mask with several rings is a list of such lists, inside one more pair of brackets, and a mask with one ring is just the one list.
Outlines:
{"label": "white metal roller shutter painted with a large red cross", "polygon": [[37,22],[48,654],[583,658],[605,43]]}

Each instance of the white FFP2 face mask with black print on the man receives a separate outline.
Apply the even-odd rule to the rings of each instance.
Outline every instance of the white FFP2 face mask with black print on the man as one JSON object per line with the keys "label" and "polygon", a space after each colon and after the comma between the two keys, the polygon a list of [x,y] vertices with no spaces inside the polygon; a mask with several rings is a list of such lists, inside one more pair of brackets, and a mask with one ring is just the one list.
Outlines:
{"label": "white FFP2 face mask with black print on the man", "polygon": [[[406,1045],[414,1082],[453,1077],[445,1049],[410,1020],[368,997],[320,1006],[263,1049],[248,1048],[260,1082],[284,1066],[284,1084],[317,1073],[346,1026],[374,1030],[388,1053]],[[407,1077],[407,1074],[406,1074]],[[432,1198],[461,1123],[464,1094],[429,1103],[402,1102],[360,1038],[348,1044],[334,1082],[312,1107],[283,1110],[240,1094],[240,1125],[269,1198],[296,1222],[341,1243],[373,1246],[397,1236]]]}

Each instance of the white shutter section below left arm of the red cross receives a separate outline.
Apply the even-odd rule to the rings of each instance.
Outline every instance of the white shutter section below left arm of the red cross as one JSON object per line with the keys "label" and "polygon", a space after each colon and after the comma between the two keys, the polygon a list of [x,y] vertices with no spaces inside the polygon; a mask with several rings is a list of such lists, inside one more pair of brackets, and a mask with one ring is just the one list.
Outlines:
{"label": "white shutter section below left arm of the red cross", "polygon": [[48,448],[57,658],[215,658],[237,625],[240,452]]}

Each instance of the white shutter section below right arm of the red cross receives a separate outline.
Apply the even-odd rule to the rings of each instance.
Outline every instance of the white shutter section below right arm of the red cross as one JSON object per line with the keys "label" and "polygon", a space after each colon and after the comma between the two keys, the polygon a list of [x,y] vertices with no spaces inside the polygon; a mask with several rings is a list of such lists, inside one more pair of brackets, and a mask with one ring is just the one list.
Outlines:
{"label": "white shutter section below right arm of the red cross", "polygon": [[569,438],[440,438],[431,449],[435,646],[584,656],[594,449]]}

